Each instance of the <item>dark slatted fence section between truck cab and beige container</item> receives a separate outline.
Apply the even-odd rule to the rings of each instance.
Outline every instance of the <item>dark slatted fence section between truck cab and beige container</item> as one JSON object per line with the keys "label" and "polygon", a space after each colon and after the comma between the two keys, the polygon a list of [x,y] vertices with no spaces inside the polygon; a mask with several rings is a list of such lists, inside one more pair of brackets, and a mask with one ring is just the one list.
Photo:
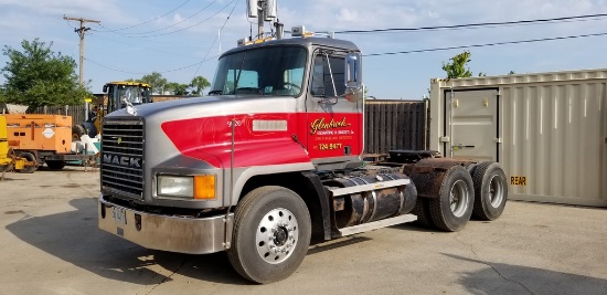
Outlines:
{"label": "dark slatted fence section between truck cab and beige container", "polygon": [[428,112],[424,101],[366,101],[365,154],[427,149]]}

